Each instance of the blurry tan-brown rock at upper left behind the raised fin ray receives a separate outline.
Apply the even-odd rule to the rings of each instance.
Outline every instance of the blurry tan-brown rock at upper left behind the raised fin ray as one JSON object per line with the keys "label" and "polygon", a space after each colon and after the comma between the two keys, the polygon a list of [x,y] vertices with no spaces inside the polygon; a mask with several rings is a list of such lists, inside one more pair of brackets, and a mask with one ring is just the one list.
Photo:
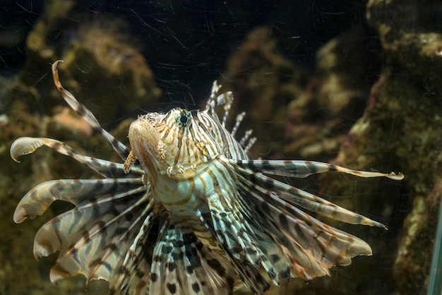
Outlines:
{"label": "blurry tan-brown rock at upper left behind the raised fin ray", "polygon": [[71,1],[47,1],[28,35],[28,61],[11,99],[25,97],[44,114],[54,104],[64,105],[50,74],[50,64],[63,59],[61,83],[83,103],[88,100],[104,123],[138,114],[157,100],[161,93],[153,73],[123,20],[76,14],[73,6]]}

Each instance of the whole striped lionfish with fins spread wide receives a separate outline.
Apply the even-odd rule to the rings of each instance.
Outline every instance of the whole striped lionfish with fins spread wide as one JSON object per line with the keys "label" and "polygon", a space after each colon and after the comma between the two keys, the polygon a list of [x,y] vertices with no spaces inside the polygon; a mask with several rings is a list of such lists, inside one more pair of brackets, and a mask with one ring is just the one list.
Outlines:
{"label": "whole striped lionfish with fins spread wide", "polygon": [[[101,179],[59,179],[32,188],[14,213],[35,218],[54,202],[75,205],[44,224],[36,258],[59,251],[50,271],[56,283],[85,275],[104,279],[111,294],[232,294],[241,282],[263,294],[280,279],[330,275],[355,255],[371,255],[362,239],[330,227],[302,209],[350,224],[385,227],[272,176],[306,177],[338,171],[361,177],[402,174],[355,171],[311,161],[249,159],[251,131],[235,139],[225,123],[232,92],[213,83],[205,109],[151,112],[129,128],[131,149],[104,130],[59,81],[69,106],[112,145],[123,163],[87,157],[61,141],[18,138],[11,157],[42,145],[76,159]],[[220,119],[216,110],[224,107]]]}

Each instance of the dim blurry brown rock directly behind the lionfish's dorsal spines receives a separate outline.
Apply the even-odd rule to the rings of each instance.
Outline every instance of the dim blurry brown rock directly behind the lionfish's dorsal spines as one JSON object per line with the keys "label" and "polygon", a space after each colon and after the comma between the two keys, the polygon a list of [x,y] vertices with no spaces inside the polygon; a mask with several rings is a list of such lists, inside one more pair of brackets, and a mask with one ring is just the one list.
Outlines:
{"label": "dim blurry brown rock directly behind the lionfish's dorsal spines", "polygon": [[275,144],[283,137],[286,106],[301,95],[308,78],[309,71],[281,54],[267,27],[252,30],[229,57],[222,90],[233,91],[232,114],[247,113],[242,125],[253,128],[259,138],[256,156],[280,152],[282,147]]}

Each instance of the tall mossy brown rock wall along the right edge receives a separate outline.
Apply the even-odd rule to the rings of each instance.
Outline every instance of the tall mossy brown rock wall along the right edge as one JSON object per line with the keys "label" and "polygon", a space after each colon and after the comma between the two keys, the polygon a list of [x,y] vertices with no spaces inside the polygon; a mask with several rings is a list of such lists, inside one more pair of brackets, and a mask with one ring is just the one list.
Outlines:
{"label": "tall mossy brown rock wall along the right edge", "polygon": [[[381,131],[376,137],[388,144],[380,148],[395,150],[407,176],[404,202],[412,203],[395,261],[400,294],[426,294],[441,198],[441,12],[438,1],[371,0],[367,6],[386,68],[371,99],[366,133]],[[383,115],[389,124],[379,121],[385,108],[393,110],[389,119]]]}

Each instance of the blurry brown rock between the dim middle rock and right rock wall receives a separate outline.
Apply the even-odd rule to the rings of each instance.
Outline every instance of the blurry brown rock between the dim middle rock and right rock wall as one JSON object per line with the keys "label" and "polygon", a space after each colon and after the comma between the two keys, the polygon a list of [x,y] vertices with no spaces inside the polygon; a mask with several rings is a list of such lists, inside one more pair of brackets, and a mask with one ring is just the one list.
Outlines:
{"label": "blurry brown rock between the dim middle rock and right rock wall", "polygon": [[316,75],[288,106],[286,157],[327,162],[364,112],[380,65],[376,40],[354,28],[316,54]]}

